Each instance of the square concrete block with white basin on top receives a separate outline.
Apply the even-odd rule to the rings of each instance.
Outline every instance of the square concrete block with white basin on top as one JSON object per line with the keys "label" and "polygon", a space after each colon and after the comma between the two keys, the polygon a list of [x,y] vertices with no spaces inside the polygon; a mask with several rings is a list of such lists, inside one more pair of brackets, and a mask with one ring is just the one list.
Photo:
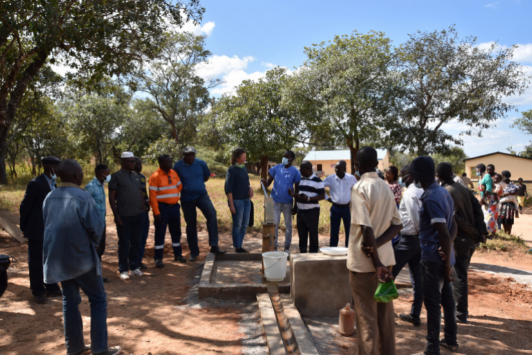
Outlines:
{"label": "square concrete block with white basin on top", "polygon": [[338,316],[346,303],[352,303],[346,263],[347,256],[290,256],[290,295],[301,316]]}

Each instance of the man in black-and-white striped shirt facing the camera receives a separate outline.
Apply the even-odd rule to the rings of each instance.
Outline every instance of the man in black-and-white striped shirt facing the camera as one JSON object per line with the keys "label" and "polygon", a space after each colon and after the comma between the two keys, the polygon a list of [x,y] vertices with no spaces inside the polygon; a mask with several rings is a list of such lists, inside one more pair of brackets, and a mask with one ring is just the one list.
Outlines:
{"label": "man in black-and-white striped shirt facing the camera", "polygon": [[325,200],[325,186],[323,181],[312,172],[312,163],[306,160],[299,166],[301,182],[299,195],[293,195],[297,202],[297,233],[299,235],[299,251],[307,252],[307,242],[310,239],[310,253],[317,253],[319,249],[318,225],[320,222],[320,200]]}

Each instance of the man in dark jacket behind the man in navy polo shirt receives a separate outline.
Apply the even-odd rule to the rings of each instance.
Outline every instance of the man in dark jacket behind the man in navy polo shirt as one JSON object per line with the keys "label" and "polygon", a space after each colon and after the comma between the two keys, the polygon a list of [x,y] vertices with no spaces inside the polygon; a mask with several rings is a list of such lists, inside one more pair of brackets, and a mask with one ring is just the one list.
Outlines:
{"label": "man in dark jacket behind the man in navy polo shirt", "polygon": [[468,283],[467,270],[475,245],[485,240],[488,234],[484,213],[477,198],[470,189],[453,181],[453,168],[449,163],[441,163],[437,168],[438,179],[455,202],[455,220],[458,233],[455,238],[456,262],[453,266],[453,293],[456,301],[456,318],[460,323],[467,323]]}

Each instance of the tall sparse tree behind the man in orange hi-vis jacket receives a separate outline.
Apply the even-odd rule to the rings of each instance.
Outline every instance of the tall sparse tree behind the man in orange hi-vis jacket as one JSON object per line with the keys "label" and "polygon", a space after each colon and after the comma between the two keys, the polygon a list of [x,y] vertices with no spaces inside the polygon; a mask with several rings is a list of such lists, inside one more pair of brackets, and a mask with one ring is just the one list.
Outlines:
{"label": "tall sparse tree behind the man in orange hi-vis jacket", "polygon": [[158,57],[128,78],[133,90],[151,96],[146,104],[168,122],[180,151],[196,137],[199,117],[211,104],[208,89],[220,83],[219,79],[206,83],[196,75],[209,55],[205,37],[187,32],[167,34]]}

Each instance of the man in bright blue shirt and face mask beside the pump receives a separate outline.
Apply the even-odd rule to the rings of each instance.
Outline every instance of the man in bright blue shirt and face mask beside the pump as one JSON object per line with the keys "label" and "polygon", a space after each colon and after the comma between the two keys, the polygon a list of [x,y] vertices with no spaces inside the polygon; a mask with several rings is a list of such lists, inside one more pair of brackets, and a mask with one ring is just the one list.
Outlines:
{"label": "man in bright blue shirt and face mask beside the pump", "polygon": [[290,243],[292,243],[292,214],[296,214],[297,209],[294,205],[294,198],[288,194],[288,190],[293,191],[292,195],[298,195],[299,182],[301,181],[301,173],[292,166],[295,157],[294,152],[286,151],[283,155],[282,164],[277,164],[272,169],[269,169],[268,180],[264,178],[262,180],[266,187],[274,182],[272,198],[274,198],[275,250],[277,250],[278,227],[281,222],[281,212],[283,212],[286,227],[285,253],[290,253]]}

